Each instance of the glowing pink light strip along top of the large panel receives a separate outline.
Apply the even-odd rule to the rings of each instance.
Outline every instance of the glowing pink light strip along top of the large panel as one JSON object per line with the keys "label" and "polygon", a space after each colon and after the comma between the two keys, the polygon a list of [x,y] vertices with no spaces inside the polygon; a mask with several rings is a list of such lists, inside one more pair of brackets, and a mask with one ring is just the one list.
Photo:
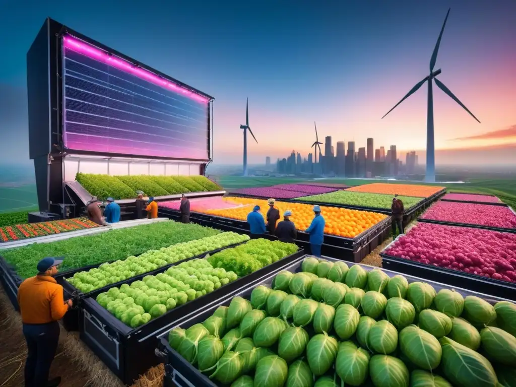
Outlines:
{"label": "glowing pink light strip along top of the large panel", "polygon": [[199,101],[199,102],[208,102],[209,100],[202,95],[191,92],[184,87],[171,83],[169,80],[163,79],[150,71],[141,69],[139,67],[134,66],[132,63],[122,60],[117,57],[113,57],[108,53],[96,49],[95,47],[84,43],[82,41],[78,41],[71,36],[67,35],[63,37],[63,44],[70,50],[76,51],[80,54],[87,55],[95,60],[99,60],[107,63],[109,66],[116,67],[125,72],[134,74],[142,79],[148,80],[155,85],[166,87],[168,89],[173,90],[174,92],[182,92],[183,95],[189,96],[190,98]]}

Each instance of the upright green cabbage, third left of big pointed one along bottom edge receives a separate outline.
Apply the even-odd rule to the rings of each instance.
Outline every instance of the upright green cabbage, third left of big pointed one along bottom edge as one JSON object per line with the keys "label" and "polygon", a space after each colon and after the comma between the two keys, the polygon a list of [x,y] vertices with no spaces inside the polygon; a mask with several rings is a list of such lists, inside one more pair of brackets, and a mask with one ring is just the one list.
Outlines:
{"label": "upright green cabbage, third left of big pointed one along bottom edge", "polygon": [[338,347],[335,369],[344,385],[362,385],[369,375],[369,353],[350,341]]}

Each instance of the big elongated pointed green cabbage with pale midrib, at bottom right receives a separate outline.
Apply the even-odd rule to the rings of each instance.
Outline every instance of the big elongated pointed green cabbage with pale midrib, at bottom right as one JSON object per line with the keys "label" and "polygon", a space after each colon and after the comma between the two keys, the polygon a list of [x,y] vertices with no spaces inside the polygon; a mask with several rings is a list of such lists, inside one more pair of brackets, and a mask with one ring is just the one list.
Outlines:
{"label": "big elongated pointed green cabbage with pale midrib, at bottom right", "polygon": [[439,342],[443,351],[441,367],[444,376],[451,383],[461,386],[496,387],[498,379],[489,360],[451,338],[441,337]]}

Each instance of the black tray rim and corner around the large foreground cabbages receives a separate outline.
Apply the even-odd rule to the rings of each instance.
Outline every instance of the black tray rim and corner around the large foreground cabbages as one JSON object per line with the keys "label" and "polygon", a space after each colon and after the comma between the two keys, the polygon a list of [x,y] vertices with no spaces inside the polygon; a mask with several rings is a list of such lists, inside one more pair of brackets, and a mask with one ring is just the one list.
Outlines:
{"label": "black tray rim and corner around the large foreground cabbages", "polygon": [[[301,271],[301,262],[303,261],[303,259],[305,257],[306,257],[306,255],[299,257],[298,259],[293,261],[290,265],[285,267],[284,270],[288,270],[291,272]],[[333,261],[333,262],[337,261],[337,260],[331,259],[329,257],[324,257],[324,259],[326,259],[328,261]],[[367,271],[375,269],[374,266],[356,264],[356,263],[351,263],[351,262],[346,262],[346,263],[350,267],[352,265],[360,265]],[[393,277],[393,276],[399,275],[399,274],[404,275],[407,278],[409,283],[415,282],[415,281],[425,281],[425,282],[429,283],[430,285],[432,285],[436,289],[436,292],[438,292],[442,288],[448,288],[448,289],[452,288],[452,286],[450,286],[449,284],[443,284],[443,283],[438,283],[438,282],[434,282],[434,281],[429,281],[426,279],[413,277],[410,275],[406,275],[405,273],[395,272],[395,271],[391,271],[388,269],[382,269],[382,270],[389,277]],[[254,287],[256,287],[258,285],[265,285],[265,286],[271,287],[271,284],[272,284],[275,276],[276,276],[276,273],[271,273],[269,276],[264,277],[262,279],[262,281],[259,283],[251,284],[245,288],[240,289],[239,292],[235,292],[234,294],[232,294],[230,296],[220,298],[217,302],[214,302],[212,305],[206,307],[205,309],[200,311],[197,315],[187,316],[187,317],[183,318],[182,320],[177,321],[176,324],[171,327],[171,329],[176,328],[176,327],[181,327],[181,328],[186,329],[188,327],[191,327],[194,324],[198,324],[198,323],[204,321],[206,318],[211,316],[213,314],[213,312],[220,305],[228,306],[230,304],[231,300],[233,299],[233,297],[240,296],[240,297],[249,299]],[[462,288],[455,288],[455,290],[457,292],[459,292],[460,294],[462,294],[462,296],[464,296],[464,297],[469,296],[469,295],[480,296],[480,297],[486,299],[491,304],[494,304],[498,301],[507,301],[506,299],[503,299],[503,298],[496,298],[496,297],[492,297],[490,295],[478,294],[476,291],[468,291],[468,290],[462,289]],[[172,381],[173,383],[175,383],[172,385],[182,385],[182,386],[183,385],[184,386],[193,385],[195,387],[201,387],[201,386],[202,387],[205,387],[205,386],[206,387],[217,387],[217,384],[215,384],[207,376],[201,374],[197,368],[195,368],[193,365],[188,363],[177,351],[175,351],[174,349],[172,349],[170,347],[170,345],[168,344],[168,340],[167,340],[168,331],[163,332],[162,334],[158,335],[157,338],[158,338],[158,353],[163,357],[164,362],[165,362],[165,373],[166,373],[165,380],[166,381],[168,380],[168,381]]]}

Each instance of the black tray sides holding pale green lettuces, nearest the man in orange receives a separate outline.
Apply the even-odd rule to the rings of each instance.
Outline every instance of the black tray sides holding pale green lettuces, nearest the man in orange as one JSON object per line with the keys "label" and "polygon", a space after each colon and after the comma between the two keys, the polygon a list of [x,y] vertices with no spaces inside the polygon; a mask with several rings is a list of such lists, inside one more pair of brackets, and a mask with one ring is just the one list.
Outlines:
{"label": "black tray sides holding pale green lettuces, nearest the man in orange", "polygon": [[[92,292],[89,297],[83,299],[79,307],[80,338],[122,382],[130,385],[139,375],[160,363],[154,353],[157,335],[168,332],[178,320],[196,315],[221,297],[227,297],[243,287],[260,282],[263,277],[278,272],[302,255],[304,250],[299,250],[135,329],[123,324],[95,301],[95,297],[101,292]],[[134,277],[124,283],[130,284],[138,279],[140,278]]]}

